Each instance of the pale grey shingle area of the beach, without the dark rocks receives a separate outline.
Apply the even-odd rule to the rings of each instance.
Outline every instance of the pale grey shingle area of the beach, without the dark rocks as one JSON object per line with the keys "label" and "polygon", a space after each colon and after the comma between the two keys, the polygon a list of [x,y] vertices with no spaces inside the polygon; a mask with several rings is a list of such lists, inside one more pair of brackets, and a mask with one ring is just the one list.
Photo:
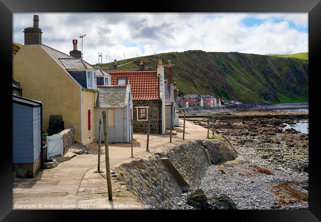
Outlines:
{"label": "pale grey shingle area of the beach, without the dark rocks", "polygon": [[[241,150],[238,150],[238,152],[240,153]],[[272,171],[272,174],[256,172],[252,166],[267,168]],[[227,174],[221,173],[218,169],[224,169]],[[250,161],[236,166],[211,165],[202,180],[201,188],[206,195],[227,194],[235,201],[238,209],[302,209],[308,208],[307,201],[294,199],[294,203],[282,205],[272,190],[276,190],[274,185],[286,181],[304,182],[307,180],[307,173],[298,173],[297,171],[277,167],[260,157],[251,156]],[[303,185],[306,184],[293,187],[308,194]],[[282,194],[286,193],[285,190],[281,191],[283,191]],[[292,197],[284,198],[290,200]]]}

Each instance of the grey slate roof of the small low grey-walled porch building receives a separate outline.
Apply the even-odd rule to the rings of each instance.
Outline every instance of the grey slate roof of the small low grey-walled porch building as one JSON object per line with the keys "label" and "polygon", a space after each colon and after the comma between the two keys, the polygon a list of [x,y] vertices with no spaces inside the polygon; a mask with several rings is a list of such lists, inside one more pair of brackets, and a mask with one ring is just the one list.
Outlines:
{"label": "grey slate roof of the small low grey-walled porch building", "polygon": [[124,107],[127,86],[97,87],[96,108]]}

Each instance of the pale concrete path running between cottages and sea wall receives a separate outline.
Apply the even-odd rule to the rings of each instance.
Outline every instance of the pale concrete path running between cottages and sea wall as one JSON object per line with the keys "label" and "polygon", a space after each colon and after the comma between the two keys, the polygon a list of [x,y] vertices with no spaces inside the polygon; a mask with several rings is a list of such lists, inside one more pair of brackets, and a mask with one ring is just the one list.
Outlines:
{"label": "pale concrete path running between cottages and sea wall", "polygon": [[[183,123],[176,127],[177,135],[172,142],[182,141]],[[207,129],[186,121],[185,139],[203,139]],[[145,134],[135,133],[133,153],[148,156],[159,152],[169,143],[169,135],[150,135],[150,152],[146,151]],[[102,144],[103,146],[104,144]],[[90,149],[97,149],[94,144]],[[104,146],[102,150],[104,150]],[[130,144],[110,144],[109,156],[111,168],[130,160]],[[125,184],[112,177],[113,202],[108,201],[105,154],[101,154],[101,170],[105,173],[93,173],[97,170],[97,155],[77,155],[69,161],[59,163],[54,169],[40,172],[33,179],[15,178],[13,181],[13,209],[144,209],[135,196],[126,190]]]}

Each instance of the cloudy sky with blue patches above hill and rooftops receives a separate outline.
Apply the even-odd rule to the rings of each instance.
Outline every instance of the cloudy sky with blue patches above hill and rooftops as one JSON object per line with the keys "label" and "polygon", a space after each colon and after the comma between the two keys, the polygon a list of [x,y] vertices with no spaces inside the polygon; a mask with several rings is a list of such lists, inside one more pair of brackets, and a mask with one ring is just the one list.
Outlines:
{"label": "cloudy sky with blue patches above hill and rooftops", "polygon": [[[308,51],[308,13],[14,13],[13,41],[39,15],[42,43],[69,54],[83,38],[83,58],[98,63],[164,52],[254,54]],[[80,44],[78,49],[81,50]],[[125,54],[125,55],[124,55]],[[107,56],[107,57],[106,57]]]}

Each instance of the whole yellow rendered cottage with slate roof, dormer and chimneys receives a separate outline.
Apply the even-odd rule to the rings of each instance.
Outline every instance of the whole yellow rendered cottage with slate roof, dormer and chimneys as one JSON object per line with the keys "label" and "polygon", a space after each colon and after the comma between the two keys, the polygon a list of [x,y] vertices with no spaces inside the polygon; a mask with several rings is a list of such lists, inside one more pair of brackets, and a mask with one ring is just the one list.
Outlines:
{"label": "whole yellow rendered cottage with slate roof, dormer and chimneys", "polygon": [[94,105],[97,98],[96,69],[82,60],[73,40],[70,55],[41,43],[39,16],[24,30],[25,45],[13,56],[13,78],[23,86],[24,97],[43,104],[43,126],[50,115],[62,115],[65,128],[76,127],[82,144],[95,139]]}

